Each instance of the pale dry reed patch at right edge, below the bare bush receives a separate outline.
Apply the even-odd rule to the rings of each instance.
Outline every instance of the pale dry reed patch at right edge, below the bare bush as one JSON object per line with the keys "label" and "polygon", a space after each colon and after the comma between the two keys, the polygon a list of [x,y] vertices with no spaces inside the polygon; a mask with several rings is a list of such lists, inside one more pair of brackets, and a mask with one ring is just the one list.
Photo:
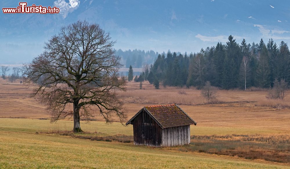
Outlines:
{"label": "pale dry reed patch at right edge, below the bare bush", "polygon": [[290,97],[284,99],[261,99],[257,102],[257,106],[269,106],[272,108],[290,108]]}

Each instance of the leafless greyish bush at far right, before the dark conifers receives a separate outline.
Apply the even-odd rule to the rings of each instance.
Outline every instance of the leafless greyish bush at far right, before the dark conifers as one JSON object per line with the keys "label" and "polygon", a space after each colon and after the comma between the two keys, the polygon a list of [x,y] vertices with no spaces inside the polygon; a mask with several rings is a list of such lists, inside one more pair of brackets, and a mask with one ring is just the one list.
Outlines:
{"label": "leafless greyish bush at far right, before the dark conifers", "polygon": [[285,79],[275,79],[274,86],[271,90],[269,90],[268,95],[266,96],[268,99],[284,99],[285,91],[288,88],[288,84]]}

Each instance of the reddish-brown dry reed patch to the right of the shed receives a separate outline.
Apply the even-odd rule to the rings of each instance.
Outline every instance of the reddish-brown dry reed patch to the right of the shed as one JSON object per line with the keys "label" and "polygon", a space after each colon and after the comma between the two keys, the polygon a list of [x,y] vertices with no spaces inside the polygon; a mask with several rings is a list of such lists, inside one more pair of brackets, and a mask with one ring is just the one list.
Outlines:
{"label": "reddish-brown dry reed patch to the right of the shed", "polygon": [[179,150],[290,163],[290,135],[192,136],[191,145]]}

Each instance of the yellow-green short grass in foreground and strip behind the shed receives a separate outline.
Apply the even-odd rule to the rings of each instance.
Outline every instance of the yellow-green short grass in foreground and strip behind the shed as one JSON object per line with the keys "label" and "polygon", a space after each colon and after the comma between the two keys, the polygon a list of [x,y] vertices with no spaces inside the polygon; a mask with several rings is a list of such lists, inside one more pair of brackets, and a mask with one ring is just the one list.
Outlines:
{"label": "yellow-green short grass in foreground and strip behind the shed", "polygon": [[[0,168],[290,168],[281,163],[36,133],[71,130],[71,127],[72,121],[51,124],[48,120],[1,118]],[[120,123],[82,122],[81,127],[100,135],[133,134],[132,126],[124,127]],[[258,132],[275,131],[191,127],[192,135]]]}

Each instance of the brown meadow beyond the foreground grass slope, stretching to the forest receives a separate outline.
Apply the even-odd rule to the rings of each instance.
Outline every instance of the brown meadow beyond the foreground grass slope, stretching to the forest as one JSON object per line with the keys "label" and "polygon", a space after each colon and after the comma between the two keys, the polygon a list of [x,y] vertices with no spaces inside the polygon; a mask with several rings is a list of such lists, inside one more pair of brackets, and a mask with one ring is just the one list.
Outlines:
{"label": "brown meadow beyond the foreground grass slope, stretching to the forest", "polygon": [[[37,135],[56,139],[70,137],[96,142],[105,141],[108,145],[117,143],[120,146],[123,144],[133,146],[133,132],[130,126],[124,129],[121,125],[106,126],[98,114],[85,125],[86,132],[82,134],[68,132],[72,127],[69,125],[71,119],[57,122],[59,126],[65,123],[65,126],[58,127],[58,130],[46,127],[39,130],[42,123],[48,123],[50,114],[45,110],[45,105],[29,97],[32,87],[20,85],[18,82],[11,84],[0,79],[0,117],[13,118],[7,125],[0,127],[3,132],[23,135],[34,131],[34,135],[37,132]],[[139,83],[129,82],[127,91],[117,91],[117,94],[124,101],[128,118],[135,115],[143,106],[177,103],[197,121],[197,126],[191,127],[191,145],[161,148],[163,152],[169,149],[180,153],[192,152],[193,155],[198,153],[206,155],[206,158],[217,158],[216,155],[218,155],[235,160],[251,159],[271,163],[290,163],[289,95],[281,101],[266,99],[267,91],[262,89],[218,90],[218,100],[210,103],[201,97],[200,90],[195,88],[164,88],[160,85],[160,89],[156,90],[147,81],[143,83],[142,90],[139,89]],[[42,120],[35,120],[36,126],[32,129],[22,130],[25,128],[25,125],[19,126],[22,119],[23,125],[27,123],[26,120]],[[97,127],[94,127],[95,124],[98,124]],[[84,125],[83,122],[82,125]],[[16,131],[11,129],[14,126],[17,126]]]}

